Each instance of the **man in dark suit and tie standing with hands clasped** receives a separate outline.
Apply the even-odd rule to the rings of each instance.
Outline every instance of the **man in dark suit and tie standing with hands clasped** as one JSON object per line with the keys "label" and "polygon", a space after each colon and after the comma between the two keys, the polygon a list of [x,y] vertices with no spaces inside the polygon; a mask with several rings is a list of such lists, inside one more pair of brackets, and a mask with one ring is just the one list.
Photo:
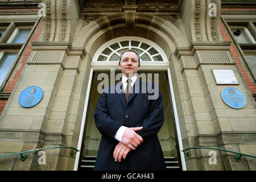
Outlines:
{"label": "man in dark suit and tie standing with hands clasped", "polygon": [[[164,122],[163,96],[137,78],[139,56],[132,49],[122,53],[118,67],[123,76],[117,85],[125,93],[117,92],[117,85],[105,88],[94,112],[102,134],[94,170],[165,170],[157,135]],[[158,96],[149,99],[152,90]]]}

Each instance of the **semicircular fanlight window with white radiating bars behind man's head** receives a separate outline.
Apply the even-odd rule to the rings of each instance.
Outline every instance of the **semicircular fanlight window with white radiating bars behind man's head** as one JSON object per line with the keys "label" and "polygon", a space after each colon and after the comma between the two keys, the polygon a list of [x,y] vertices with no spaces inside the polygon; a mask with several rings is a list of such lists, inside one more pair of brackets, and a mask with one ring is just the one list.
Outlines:
{"label": "semicircular fanlight window with white radiating bars behind man's head", "polygon": [[[141,57],[141,61],[164,61],[160,49],[152,46],[154,43],[145,43],[138,40],[119,40],[103,47],[97,61],[118,61],[123,51],[134,49]],[[155,45],[155,44],[154,44]],[[105,48],[105,49],[104,49]]]}

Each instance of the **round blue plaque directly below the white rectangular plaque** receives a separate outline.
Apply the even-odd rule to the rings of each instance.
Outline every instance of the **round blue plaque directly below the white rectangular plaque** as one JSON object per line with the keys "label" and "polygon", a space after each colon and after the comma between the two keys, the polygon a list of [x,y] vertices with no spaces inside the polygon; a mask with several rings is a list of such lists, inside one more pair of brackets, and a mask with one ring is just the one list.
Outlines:
{"label": "round blue plaque directly below the white rectangular plaque", "polygon": [[221,92],[221,98],[226,105],[234,109],[242,109],[246,105],[245,94],[234,87],[224,88]]}

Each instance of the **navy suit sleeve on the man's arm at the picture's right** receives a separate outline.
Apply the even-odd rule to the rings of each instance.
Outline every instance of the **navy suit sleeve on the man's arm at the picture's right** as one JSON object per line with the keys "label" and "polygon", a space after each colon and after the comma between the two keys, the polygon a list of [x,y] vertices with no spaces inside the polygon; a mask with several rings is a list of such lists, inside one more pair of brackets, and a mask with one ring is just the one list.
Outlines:
{"label": "navy suit sleeve on the man's arm at the picture's right", "polygon": [[151,100],[150,114],[136,127],[143,126],[143,129],[137,131],[143,139],[155,135],[159,132],[164,122],[163,96],[159,90],[159,96]]}

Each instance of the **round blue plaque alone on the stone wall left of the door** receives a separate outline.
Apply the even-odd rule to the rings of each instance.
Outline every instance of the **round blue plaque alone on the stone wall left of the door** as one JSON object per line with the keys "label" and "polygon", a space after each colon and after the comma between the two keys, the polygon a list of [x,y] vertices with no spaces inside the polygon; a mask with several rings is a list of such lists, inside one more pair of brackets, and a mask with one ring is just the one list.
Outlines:
{"label": "round blue plaque alone on the stone wall left of the door", "polygon": [[43,98],[43,90],[38,86],[30,86],[19,95],[19,104],[22,107],[34,107]]}

